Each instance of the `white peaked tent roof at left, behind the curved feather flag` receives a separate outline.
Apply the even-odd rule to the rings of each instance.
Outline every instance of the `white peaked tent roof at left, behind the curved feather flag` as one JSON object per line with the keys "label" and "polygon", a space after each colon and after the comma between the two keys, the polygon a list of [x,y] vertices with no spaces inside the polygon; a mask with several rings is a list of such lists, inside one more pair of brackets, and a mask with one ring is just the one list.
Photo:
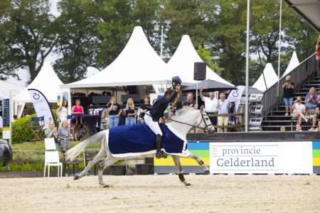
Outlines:
{"label": "white peaked tent roof at left, behind the curved feather flag", "polygon": [[28,89],[38,89],[46,96],[48,102],[57,102],[60,85],[62,84],[63,82],[61,82],[59,77],[55,74],[50,62],[44,62],[43,67],[36,78],[28,85],[28,87],[26,87],[26,89],[23,89],[16,97],[14,97],[14,102],[31,102]]}

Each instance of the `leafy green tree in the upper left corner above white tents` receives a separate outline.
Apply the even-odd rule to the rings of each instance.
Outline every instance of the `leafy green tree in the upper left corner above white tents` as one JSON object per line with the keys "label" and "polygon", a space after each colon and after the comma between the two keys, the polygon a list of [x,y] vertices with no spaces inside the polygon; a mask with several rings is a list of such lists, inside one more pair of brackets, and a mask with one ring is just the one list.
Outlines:
{"label": "leafy green tree in the upper left corner above white tents", "polygon": [[1,4],[5,7],[0,13],[0,72],[16,75],[16,69],[27,68],[33,80],[58,37],[48,0]]}

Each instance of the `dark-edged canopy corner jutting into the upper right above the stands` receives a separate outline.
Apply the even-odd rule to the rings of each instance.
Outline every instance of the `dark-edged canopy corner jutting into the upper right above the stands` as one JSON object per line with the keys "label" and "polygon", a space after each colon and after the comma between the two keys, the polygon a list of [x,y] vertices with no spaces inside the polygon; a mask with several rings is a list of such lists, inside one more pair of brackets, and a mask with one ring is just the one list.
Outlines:
{"label": "dark-edged canopy corner jutting into the upper right above the stands", "polygon": [[284,0],[299,13],[309,25],[320,33],[320,1],[319,0]]}

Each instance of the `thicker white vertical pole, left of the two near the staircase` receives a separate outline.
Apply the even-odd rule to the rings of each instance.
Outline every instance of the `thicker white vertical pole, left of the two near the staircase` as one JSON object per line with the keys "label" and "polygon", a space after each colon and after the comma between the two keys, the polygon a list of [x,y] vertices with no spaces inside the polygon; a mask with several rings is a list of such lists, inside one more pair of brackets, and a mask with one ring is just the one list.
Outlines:
{"label": "thicker white vertical pole, left of the two near the staircase", "polygon": [[247,44],[245,51],[245,131],[248,130],[248,112],[249,112],[249,34],[250,34],[250,0],[247,0]]}

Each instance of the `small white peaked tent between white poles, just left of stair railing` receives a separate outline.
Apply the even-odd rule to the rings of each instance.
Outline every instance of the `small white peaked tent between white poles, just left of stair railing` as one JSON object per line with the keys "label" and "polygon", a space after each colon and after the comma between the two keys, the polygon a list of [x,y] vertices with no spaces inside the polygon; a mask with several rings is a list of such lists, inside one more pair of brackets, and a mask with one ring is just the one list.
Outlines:
{"label": "small white peaked tent between white poles, just left of stair railing", "polygon": [[[265,78],[263,77],[263,75],[265,75]],[[274,72],[272,64],[267,63],[267,65],[265,65],[265,70],[263,70],[263,74],[261,74],[260,77],[255,82],[255,84],[252,85],[252,88],[259,89],[260,91],[265,92],[277,81],[278,81],[278,76]],[[267,84],[267,88],[266,88],[266,84]]]}

